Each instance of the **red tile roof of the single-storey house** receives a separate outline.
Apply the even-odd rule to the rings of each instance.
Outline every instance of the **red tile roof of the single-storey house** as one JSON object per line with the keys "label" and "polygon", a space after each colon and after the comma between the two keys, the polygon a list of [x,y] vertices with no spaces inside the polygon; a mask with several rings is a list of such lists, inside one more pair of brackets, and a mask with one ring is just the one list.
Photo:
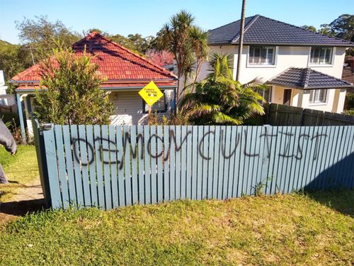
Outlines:
{"label": "red tile roof of the single-storey house", "polygon": [[[86,52],[94,56],[91,62],[99,66],[101,77],[108,79],[101,87],[144,87],[151,80],[160,86],[176,87],[174,74],[99,33],[90,33],[72,46],[76,55],[82,55],[85,47]],[[40,65],[34,65],[17,74],[11,82],[21,85],[31,82],[38,84]]]}

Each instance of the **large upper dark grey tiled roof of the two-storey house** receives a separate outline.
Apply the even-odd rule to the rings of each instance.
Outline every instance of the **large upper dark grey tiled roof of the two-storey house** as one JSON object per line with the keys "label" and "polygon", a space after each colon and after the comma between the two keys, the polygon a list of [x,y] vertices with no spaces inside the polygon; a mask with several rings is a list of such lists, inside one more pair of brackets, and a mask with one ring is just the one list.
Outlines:
{"label": "large upper dark grey tiled roof of the two-storey house", "polygon": [[[210,45],[238,44],[240,21],[210,31]],[[353,47],[348,40],[307,31],[272,18],[256,15],[245,19],[244,44],[246,45],[329,45]]]}

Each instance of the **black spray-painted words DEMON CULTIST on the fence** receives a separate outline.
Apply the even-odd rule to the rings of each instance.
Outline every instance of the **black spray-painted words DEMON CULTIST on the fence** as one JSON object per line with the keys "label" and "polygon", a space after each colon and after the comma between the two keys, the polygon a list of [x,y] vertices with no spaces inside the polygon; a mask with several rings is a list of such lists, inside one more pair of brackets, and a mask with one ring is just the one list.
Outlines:
{"label": "black spray-painted words DEMON CULTIST on the fence", "polygon": [[[119,149],[115,141],[108,138],[95,138],[93,142],[87,141],[85,138],[72,138],[73,154],[74,159],[80,162],[81,165],[91,165],[95,160],[95,154],[100,153],[101,162],[103,164],[117,164],[119,168],[122,169],[124,165],[124,157],[126,153],[130,153],[132,158],[137,158],[139,155],[140,159],[144,156],[149,155],[150,157],[162,158],[164,161],[169,160],[171,153],[178,153],[183,148],[183,145],[187,145],[188,136],[191,138],[193,134],[192,131],[187,131],[185,135],[182,136],[181,140],[176,139],[176,132],[171,129],[169,130],[169,135],[149,135],[147,141],[144,141],[144,135],[137,134],[135,136],[135,145],[132,145],[132,136],[130,133],[124,133],[122,135],[122,147]],[[198,155],[202,157],[203,160],[212,160],[215,153],[210,151],[205,151],[204,147],[210,141],[215,141],[219,143],[219,154],[224,158],[224,160],[230,159],[236,154],[243,154],[246,157],[267,157],[269,158],[272,153],[272,145],[278,143],[278,155],[283,158],[295,158],[296,160],[302,160],[304,157],[304,147],[311,145],[313,149],[312,158],[307,158],[307,160],[316,160],[319,157],[319,148],[321,147],[321,142],[326,140],[327,135],[321,133],[313,133],[312,135],[304,134],[295,135],[294,133],[278,131],[277,133],[269,133],[268,129],[265,128],[264,133],[256,136],[257,141],[263,141],[264,149],[261,150],[260,145],[252,145],[256,140],[251,138],[248,130],[243,132],[238,132],[234,134],[234,138],[224,130],[221,130],[218,134],[219,139],[215,131],[205,132],[201,138],[198,140]],[[169,138],[168,145],[164,143],[164,138]],[[227,150],[226,145],[229,141],[229,150]],[[144,144],[145,143],[145,144]],[[162,147],[160,149],[152,148],[152,143],[156,143],[156,147]],[[157,145],[158,144],[158,145]],[[86,145],[87,157],[82,158],[80,155],[80,146]],[[189,144],[190,145],[190,144]],[[155,147],[155,146],[154,146]],[[238,150],[239,149],[239,150]],[[258,149],[258,150],[257,150]],[[239,153],[238,153],[239,151]],[[112,153],[115,153],[117,160],[110,161],[105,160],[104,157],[109,158]],[[103,156],[103,155],[108,156]]]}

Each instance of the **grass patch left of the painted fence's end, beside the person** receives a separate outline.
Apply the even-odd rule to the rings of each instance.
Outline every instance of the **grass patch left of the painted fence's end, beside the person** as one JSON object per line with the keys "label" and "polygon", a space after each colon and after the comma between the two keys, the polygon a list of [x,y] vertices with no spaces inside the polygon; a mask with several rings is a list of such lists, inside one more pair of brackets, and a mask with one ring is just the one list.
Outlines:
{"label": "grass patch left of the painted fence's end, beside the person", "polygon": [[35,147],[18,146],[18,152],[11,156],[4,147],[0,147],[0,163],[10,184],[0,184],[0,201],[11,201],[18,189],[39,178]]}

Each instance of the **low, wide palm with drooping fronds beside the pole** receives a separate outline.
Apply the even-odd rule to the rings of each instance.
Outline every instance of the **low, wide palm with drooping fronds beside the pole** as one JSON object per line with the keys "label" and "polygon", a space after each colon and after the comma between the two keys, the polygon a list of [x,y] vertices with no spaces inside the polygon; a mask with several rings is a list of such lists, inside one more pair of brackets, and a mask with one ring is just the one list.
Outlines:
{"label": "low, wide palm with drooping fronds beside the pole", "polygon": [[212,73],[195,84],[195,92],[181,99],[183,112],[195,124],[241,125],[253,114],[263,114],[265,101],[257,80],[247,84],[232,79],[229,55],[212,55]]}

